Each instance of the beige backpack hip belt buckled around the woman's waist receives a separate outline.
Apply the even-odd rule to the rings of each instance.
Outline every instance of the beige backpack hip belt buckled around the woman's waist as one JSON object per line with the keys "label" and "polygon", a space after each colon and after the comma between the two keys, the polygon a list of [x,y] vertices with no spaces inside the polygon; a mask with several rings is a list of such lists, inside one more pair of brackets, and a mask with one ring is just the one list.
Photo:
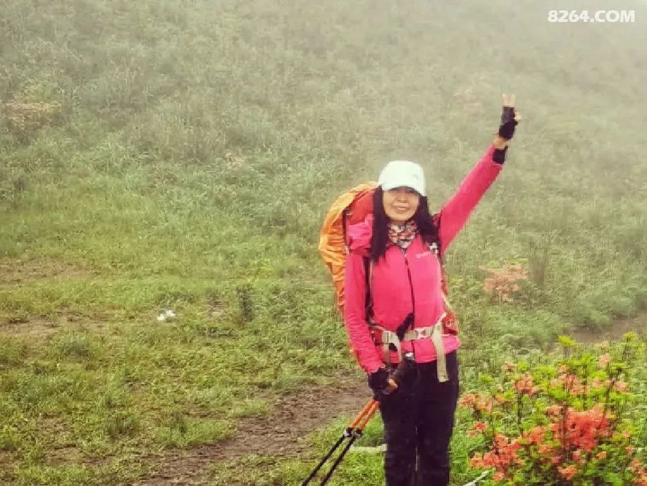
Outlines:
{"label": "beige backpack hip belt buckled around the woman's waist", "polygon": [[[447,376],[447,361],[445,359],[445,344],[443,344],[443,319],[445,313],[441,315],[436,324],[423,328],[414,328],[405,332],[402,341],[417,341],[418,339],[431,339],[436,350],[436,370],[438,372],[438,382],[444,383],[449,381]],[[389,345],[392,344],[398,353],[398,359],[402,360],[401,340],[395,331],[387,330],[379,324],[370,323],[370,330],[373,332],[374,339],[379,335],[379,341],[382,344],[384,362],[391,362],[391,350]]]}

